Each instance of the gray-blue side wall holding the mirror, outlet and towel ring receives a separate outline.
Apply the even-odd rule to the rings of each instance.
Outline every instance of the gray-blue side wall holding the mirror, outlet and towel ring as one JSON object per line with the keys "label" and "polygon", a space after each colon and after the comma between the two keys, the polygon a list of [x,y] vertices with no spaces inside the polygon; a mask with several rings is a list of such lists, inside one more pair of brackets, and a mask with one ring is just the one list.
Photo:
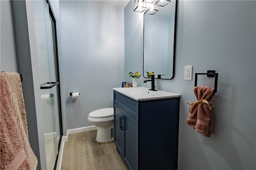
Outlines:
{"label": "gray-blue side wall holding the mirror, outlet and towel ring", "polygon": [[[143,66],[143,16],[133,12],[133,3],[124,10],[126,81]],[[178,169],[256,169],[255,10],[256,1],[178,2],[176,75],[156,82],[157,89],[181,94]],[[184,80],[187,65],[193,65],[192,81]],[[186,102],[196,101],[194,73],[206,70],[219,73],[210,138],[186,125]],[[198,78],[198,85],[214,86],[213,79]]]}

